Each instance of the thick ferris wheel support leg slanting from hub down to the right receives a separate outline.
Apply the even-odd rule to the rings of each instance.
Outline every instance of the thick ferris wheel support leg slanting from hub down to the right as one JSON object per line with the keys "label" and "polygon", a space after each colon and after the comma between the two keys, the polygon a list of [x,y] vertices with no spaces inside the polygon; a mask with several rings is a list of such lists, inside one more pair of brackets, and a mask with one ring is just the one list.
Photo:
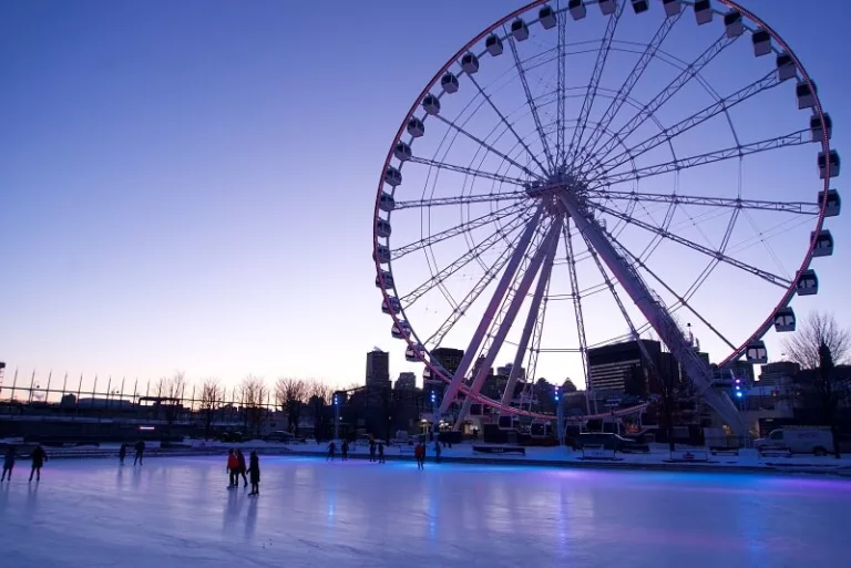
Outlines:
{"label": "thick ferris wheel support leg slanting from hub down to the right", "polygon": [[617,278],[621,286],[633,299],[649,324],[668,347],[671,354],[679,361],[689,379],[698,390],[705,391],[706,403],[725,421],[738,435],[747,434],[747,427],[732,401],[710,388],[712,373],[691,348],[677,323],[670,317],[667,309],[644,282],[642,277],[625,258],[615,249],[612,241],[605,236],[597,221],[585,216],[576,197],[568,190],[558,193],[558,199],[564,205],[567,214],[573,218],[576,227],[599,255],[599,258]]}

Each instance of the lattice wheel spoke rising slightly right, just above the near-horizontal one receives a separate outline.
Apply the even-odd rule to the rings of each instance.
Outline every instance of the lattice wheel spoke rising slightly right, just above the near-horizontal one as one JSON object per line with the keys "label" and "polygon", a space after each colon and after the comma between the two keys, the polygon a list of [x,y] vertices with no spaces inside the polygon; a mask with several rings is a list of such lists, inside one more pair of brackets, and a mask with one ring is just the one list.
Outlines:
{"label": "lattice wheel spoke rising slightly right, just above the near-horizontal one", "polygon": [[811,140],[808,136],[809,131],[801,130],[783,136],[777,136],[775,138],[767,138],[750,144],[742,144],[739,146],[731,146],[724,149],[717,149],[715,152],[708,152],[706,154],[699,154],[696,156],[689,156],[671,162],[665,162],[664,164],[655,164],[653,166],[646,166],[632,172],[623,172],[619,174],[611,174],[596,178],[598,184],[592,186],[592,189],[596,189],[602,186],[619,184],[624,182],[632,182],[642,179],[644,177],[652,177],[670,172],[678,172],[690,167],[704,166],[706,164],[714,164],[716,162],[722,162],[732,158],[742,158],[750,154],[759,154],[761,152],[768,152],[772,149],[779,149],[788,146],[801,146],[810,144]]}

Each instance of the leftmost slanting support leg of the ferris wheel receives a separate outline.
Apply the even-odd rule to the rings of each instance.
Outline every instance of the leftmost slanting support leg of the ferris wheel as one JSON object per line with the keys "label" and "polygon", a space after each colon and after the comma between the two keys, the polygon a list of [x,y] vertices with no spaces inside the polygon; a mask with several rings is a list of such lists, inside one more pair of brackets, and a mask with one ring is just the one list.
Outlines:
{"label": "leftmost slanting support leg of the ferris wheel", "polygon": [[464,351],[464,357],[461,358],[461,362],[458,365],[458,370],[455,370],[455,374],[452,376],[452,380],[443,392],[443,400],[440,403],[440,414],[445,414],[449,410],[449,406],[452,404],[452,402],[454,402],[458,390],[461,388],[461,383],[464,382],[464,376],[466,376],[466,371],[470,369],[470,364],[473,362],[473,359],[479,352],[479,348],[484,340],[484,334],[488,332],[488,328],[490,328],[493,318],[496,316],[496,310],[499,310],[500,304],[502,303],[502,300],[509,290],[509,286],[514,279],[514,275],[520,267],[520,262],[523,260],[523,257],[526,254],[526,249],[532,241],[532,237],[534,236],[535,230],[537,230],[537,226],[541,223],[541,216],[543,213],[544,207],[543,204],[541,204],[539,205],[534,216],[529,220],[529,223],[526,223],[526,228],[523,230],[523,235],[520,237],[511,259],[509,260],[507,265],[505,265],[505,271],[502,273],[502,278],[496,285],[496,290],[493,292],[491,302],[488,304],[488,308],[482,316],[482,320],[479,322],[479,327],[475,329],[475,333],[473,333],[473,338],[470,340],[470,345],[466,348],[466,351]]}

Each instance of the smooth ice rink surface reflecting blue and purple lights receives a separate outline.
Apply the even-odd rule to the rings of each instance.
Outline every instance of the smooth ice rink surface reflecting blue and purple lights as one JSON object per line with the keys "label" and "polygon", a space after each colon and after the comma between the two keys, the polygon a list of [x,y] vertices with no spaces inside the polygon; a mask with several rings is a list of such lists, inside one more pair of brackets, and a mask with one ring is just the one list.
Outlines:
{"label": "smooth ice rink surface reflecting blue and purple lights", "polygon": [[20,462],[3,567],[840,567],[851,483],[752,474],[264,457]]}

